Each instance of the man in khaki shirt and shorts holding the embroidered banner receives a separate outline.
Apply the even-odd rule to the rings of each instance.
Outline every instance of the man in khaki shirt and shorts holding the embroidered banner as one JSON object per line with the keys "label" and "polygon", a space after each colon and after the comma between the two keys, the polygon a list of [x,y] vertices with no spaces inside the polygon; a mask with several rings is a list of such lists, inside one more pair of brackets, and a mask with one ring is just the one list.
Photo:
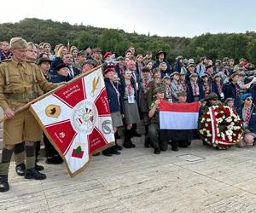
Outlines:
{"label": "man in khaki shirt and shorts holding the embroidered banner", "polygon": [[32,61],[26,60],[27,43],[13,37],[10,47],[14,57],[0,64],[0,106],[3,108],[3,153],[0,163],[0,192],[9,190],[9,164],[15,144],[25,141],[26,179],[43,180],[46,176],[35,169],[35,145],[42,130],[28,109],[15,112],[38,97],[39,89],[49,91],[57,84],[49,83]]}

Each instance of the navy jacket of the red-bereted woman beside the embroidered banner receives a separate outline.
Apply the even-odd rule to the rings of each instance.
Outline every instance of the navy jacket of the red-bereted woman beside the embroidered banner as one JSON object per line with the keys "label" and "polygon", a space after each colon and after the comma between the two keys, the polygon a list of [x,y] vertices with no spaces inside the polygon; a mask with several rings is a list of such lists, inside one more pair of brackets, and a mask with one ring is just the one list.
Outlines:
{"label": "navy jacket of the red-bereted woman beside the embroidered banner", "polygon": [[[113,88],[113,84],[110,82],[108,78],[105,78],[104,81],[105,81],[105,86],[106,86],[107,95],[108,95],[108,105],[109,105],[110,112],[121,112],[122,111],[121,110],[122,101],[120,98],[121,96],[119,95],[118,97],[118,95],[116,94],[116,90]],[[116,84],[114,86],[116,86],[116,89],[119,90]]]}

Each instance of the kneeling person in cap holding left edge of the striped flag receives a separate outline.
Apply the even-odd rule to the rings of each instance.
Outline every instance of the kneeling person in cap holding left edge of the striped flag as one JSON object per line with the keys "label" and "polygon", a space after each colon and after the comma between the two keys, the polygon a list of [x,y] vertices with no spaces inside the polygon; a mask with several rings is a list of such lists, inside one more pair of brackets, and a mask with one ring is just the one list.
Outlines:
{"label": "kneeling person in cap holding left edge of the striped flag", "polygon": [[148,127],[148,134],[150,136],[150,144],[154,147],[154,153],[160,154],[160,151],[167,150],[167,141],[159,140],[160,133],[160,117],[159,117],[159,105],[160,101],[164,100],[165,89],[162,87],[157,87],[154,89],[154,101],[152,101],[148,116],[150,118],[150,124]]}

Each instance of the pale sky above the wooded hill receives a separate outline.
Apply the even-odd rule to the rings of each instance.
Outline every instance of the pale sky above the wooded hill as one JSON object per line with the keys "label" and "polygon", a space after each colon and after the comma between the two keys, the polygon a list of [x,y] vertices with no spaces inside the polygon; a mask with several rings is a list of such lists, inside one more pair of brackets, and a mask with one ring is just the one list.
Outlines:
{"label": "pale sky above the wooded hill", "polygon": [[1,9],[0,23],[38,18],[146,35],[195,37],[255,31],[255,8],[253,0],[13,0]]}

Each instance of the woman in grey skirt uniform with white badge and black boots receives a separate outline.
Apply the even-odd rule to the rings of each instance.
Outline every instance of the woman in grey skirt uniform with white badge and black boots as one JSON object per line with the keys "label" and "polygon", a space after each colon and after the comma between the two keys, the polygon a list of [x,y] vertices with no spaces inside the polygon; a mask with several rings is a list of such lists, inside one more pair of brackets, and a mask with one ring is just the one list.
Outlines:
{"label": "woman in grey skirt uniform with white badge and black boots", "polygon": [[132,124],[140,122],[138,107],[137,107],[137,89],[136,83],[131,78],[131,71],[124,71],[124,78],[121,79],[121,98],[123,100],[123,108],[125,115],[125,141],[123,147],[136,147],[131,141],[131,127]]}

